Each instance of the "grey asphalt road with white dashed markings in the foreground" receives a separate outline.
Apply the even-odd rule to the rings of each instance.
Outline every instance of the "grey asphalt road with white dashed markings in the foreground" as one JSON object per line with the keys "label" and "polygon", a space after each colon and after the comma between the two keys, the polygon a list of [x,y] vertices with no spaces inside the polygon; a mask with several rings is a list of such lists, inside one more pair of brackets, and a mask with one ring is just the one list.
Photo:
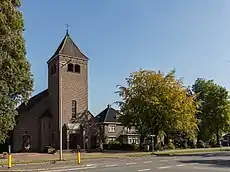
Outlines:
{"label": "grey asphalt road with white dashed markings in the foreground", "polygon": [[[142,157],[134,159],[94,160],[83,164],[76,163],[35,165],[21,167],[23,171],[43,172],[227,172],[230,171],[230,153],[203,154],[196,156]],[[17,168],[19,170],[19,168]],[[0,169],[1,171],[1,169]]]}

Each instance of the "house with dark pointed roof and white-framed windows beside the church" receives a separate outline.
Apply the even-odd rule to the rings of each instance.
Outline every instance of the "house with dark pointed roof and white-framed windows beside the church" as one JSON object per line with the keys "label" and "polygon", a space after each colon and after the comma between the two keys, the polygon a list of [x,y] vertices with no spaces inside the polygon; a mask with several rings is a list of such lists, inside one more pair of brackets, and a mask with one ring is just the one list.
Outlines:
{"label": "house with dark pointed roof and white-framed windows beside the church", "polygon": [[110,105],[95,118],[98,120],[103,143],[119,141],[123,144],[139,144],[139,135],[134,128],[127,128],[118,121],[120,113]]}

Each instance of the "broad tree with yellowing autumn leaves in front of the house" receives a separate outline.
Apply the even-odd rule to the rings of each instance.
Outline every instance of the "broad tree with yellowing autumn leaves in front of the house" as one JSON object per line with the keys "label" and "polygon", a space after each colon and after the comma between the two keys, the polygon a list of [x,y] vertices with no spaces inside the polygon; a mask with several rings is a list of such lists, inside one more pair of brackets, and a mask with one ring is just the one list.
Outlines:
{"label": "broad tree with yellowing autumn leaves in front of the house", "polygon": [[184,133],[195,136],[197,129],[196,102],[175,70],[162,72],[139,70],[126,79],[127,87],[119,86],[122,101],[119,120],[127,127],[135,126],[141,144],[149,134],[172,136]]}

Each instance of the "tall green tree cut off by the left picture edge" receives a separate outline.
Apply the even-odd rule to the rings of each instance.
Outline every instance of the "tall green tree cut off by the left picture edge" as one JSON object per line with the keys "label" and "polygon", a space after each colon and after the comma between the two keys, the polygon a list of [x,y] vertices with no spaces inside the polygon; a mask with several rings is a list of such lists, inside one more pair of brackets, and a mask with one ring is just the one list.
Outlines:
{"label": "tall green tree cut off by the left picture edge", "polygon": [[26,102],[33,90],[30,64],[23,39],[20,0],[0,2],[0,142],[14,128],[16,106]]}

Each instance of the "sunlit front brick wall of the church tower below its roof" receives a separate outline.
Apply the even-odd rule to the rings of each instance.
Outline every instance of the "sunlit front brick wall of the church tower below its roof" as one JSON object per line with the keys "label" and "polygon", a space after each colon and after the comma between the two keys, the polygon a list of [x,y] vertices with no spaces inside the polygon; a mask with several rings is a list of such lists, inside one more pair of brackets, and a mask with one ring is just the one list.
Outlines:
{"label": "sunlit front brick wall of the church tower below its roof", "polygon": [[[69,60],[69,57],[60,57],[62,64]],[[67,72],[67,64],[60,69],[63,123],[68,123],[72,118],[72,100],[77,101],[77,114],[88,110],[88,62],[71,58],[69,63],[79,64],[81,72]]]}

